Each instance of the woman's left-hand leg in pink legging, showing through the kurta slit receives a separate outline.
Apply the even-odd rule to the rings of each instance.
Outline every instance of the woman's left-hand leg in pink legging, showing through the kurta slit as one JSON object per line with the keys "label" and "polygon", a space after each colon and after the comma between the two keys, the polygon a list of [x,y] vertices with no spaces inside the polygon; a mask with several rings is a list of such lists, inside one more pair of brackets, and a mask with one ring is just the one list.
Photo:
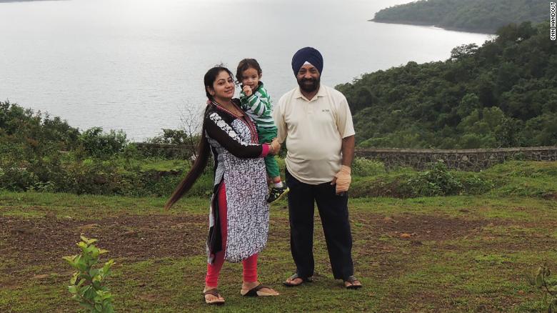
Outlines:
{"label": "woman's left-hand leg in pink legging, showing through the kurta slit", "polygon": [[224,182],[217,192],[217,201],[219,202],[219,217],[221,225],[221,238],[223,249],[215,254],[213,264],[207,264],[207,275],[205,277],[206,287],[217,287],[219,285],[219,273],[224,263],[224,252],[226,252],[226,237],[228,229],[226,229],[226,187]]}

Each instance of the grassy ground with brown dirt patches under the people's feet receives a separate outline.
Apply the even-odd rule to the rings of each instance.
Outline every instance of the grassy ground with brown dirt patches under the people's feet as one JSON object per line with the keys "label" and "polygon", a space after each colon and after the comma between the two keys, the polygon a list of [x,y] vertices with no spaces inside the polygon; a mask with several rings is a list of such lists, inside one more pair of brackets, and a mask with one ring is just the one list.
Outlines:
{"label": "grassy ground with brown dirt patches under the people's feet", "polygon": [[[524,184],[543,187],[548,177],[531,179]],[[333,279],[318,215],[315,281],[288,289],[281,282],[294,265],[286,202],[279,202],[271,207],[259,275],[281,295],[241,297],[241,264],[225,263],[219,289],[226,304],[209,308],[201,296],[209,201],[183,199],[169,212],[163,204],[0,192],[0,312],[75,312],[67,292],[72,271],[61,258],[78,253],[79,234],[99,239],[116,260],[108,285],[119,312],[543,312],[528,276],[544,262],[557,271],[555,197],[358,198],[349,209],[363,289]]]}

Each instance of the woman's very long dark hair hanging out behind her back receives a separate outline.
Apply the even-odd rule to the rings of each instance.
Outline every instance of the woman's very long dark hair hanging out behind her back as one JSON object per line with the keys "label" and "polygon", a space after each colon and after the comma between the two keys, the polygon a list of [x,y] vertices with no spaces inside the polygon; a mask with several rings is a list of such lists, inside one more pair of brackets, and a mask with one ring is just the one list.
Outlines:
{"label": "woman's very long dark hair hanging out behind her back", "polygon": [[[207,73],[204,76],[205,93],[207,95],[207,99],[209,99],[209,102],[205,109],[205,114],[207,114],[209,108],[214,105],[212,104],[213,96],[211,96],[211,94],[209,93],[209,88],[211,89],[213,88],[213,84],[215,82],[216,76],[219,76],[219,74],[221,74],[221,71],[228,72],[232,77],[232,72],[229,69],[226,69],[226,67],[222,65],[217,65],[214,66],[212,69],[209,69],[209,71],[207,71]],[[186,175],[186,178],[184,178],[180,182],[178,187],[174,189],[174,192],[170,196],[170,199],[166,202],[166,204],[164,204],[164,209],[170,209],[170,207],[172,207],[173,204],[175,204],[182,196],[184,196],[184,194],[186,194],[186,192],[189,191],[189,189],[191,189],[192,186],[194,186],[196,180],[201,176],[205,167],[207,166],[210,152],[211,149],[209,148],[209,141],[207,141],[207,138],[205,136],[205,118],[204,118],[203,126],[201,126],[201,140],[199,140],[199,144],[197,146],[197,157],[194,162],[194,165],[191,166],[191,169],[189,170],[189,173]]]}

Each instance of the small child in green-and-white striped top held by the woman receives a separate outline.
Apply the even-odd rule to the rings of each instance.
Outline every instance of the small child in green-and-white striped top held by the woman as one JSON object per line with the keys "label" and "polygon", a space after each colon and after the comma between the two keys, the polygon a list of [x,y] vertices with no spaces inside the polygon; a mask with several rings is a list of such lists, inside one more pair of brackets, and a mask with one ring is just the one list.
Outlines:
{"label": "small child in green-and-white striped top held by the woman", "polygon": [[[273,106],[267,89],[263,86],[263,82],[259,81],[261,66],[255,59],[241,60],[236,70],[236,79],[241,83],[241,108],[256,122],[259,142],[273,141],[276,138],[276,125],[271,116]],[[265,166],[267,174],[273,180],[267,202],[273,203],[288,192],[288,187],[284,187],[281,182],[281,172],[274,155],[266,156]]]}

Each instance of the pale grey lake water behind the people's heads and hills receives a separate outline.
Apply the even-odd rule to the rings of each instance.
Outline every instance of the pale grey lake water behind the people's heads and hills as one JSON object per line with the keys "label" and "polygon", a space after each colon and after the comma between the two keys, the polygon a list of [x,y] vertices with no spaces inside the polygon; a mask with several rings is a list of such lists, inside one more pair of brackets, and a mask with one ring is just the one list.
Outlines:
{"label": "pale grey lake water behind the people's heads and hills", "polygon": [[368,21],[409,0],[68,0],[0,3],[0,99],[129,139],[178,128],[204,106],[203,76],[257,59],[271,97],[296,86],[313,46],[323,84],[448,59],[490,35]]}

